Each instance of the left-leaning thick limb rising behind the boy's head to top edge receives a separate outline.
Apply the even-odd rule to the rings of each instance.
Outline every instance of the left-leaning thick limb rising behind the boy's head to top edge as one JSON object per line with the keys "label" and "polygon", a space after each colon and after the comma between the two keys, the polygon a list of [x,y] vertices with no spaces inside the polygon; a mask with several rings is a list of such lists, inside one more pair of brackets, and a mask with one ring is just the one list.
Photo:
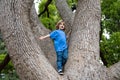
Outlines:
{"label": "left-leaning thick limb rising behind the boy's head to top edge", "polygon": [[67,32],[70,31],[74,19],[74,13],[72,13],[72,10],[69,8],[66,0],[56,0],[56,7],[60,16],[66,23]]}

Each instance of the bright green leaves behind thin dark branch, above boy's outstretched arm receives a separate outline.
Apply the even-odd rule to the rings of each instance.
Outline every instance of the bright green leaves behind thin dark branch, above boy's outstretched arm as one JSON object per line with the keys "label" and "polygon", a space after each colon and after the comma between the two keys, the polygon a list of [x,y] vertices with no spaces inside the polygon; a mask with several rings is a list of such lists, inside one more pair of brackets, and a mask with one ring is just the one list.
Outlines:
{"label": "bright green leaves behind thin dark branch, above boy's outstretched arm", "polygon": [[[47,0],[41,0],[41,3],[39,4],[39,13],[44,10],[46,2]],[[48,6],[48,11],[40,16],[40,21],[50,30],[54,30],[57,21],[61,19],[54,4],[55,1],[53,0]]]}

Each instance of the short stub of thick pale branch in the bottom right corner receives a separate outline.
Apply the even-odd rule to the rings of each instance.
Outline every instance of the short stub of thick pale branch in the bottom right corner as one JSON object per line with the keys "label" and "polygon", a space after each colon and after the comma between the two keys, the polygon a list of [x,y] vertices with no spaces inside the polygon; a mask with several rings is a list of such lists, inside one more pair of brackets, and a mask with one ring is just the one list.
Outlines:
{"label": "short stub of thick pale branch in the bottom right corner", "polygon": [[113,66],[111,66],[109,68],[110,72],[113,75],[113,78],[115,78],[115,80],[119,80],[120,79],[120,62],[114,64]]}

